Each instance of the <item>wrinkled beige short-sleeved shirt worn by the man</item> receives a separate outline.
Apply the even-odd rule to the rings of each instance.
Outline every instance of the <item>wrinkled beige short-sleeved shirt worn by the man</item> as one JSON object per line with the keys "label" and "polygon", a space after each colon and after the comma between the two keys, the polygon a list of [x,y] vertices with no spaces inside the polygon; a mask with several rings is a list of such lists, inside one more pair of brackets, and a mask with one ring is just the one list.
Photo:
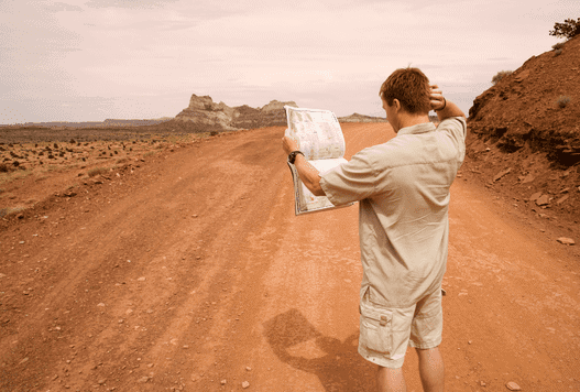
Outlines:
{"label": "wrinkled beige short-sleeved shirt worn by the man", "polygon": [[401,129],[320,173],[333,205],[359,204],[361,298],[407,307],[438,290],[447,263],[449,188],[466,155],[462,117]]}

